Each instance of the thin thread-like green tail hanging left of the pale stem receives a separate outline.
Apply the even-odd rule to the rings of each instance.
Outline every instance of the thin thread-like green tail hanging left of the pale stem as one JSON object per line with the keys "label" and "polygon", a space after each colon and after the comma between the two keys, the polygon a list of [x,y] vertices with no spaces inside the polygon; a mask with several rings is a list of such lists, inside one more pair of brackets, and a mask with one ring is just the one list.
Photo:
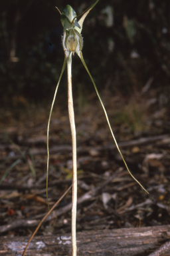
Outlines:
{"label": "thin thread-like green tail hanging left of the pale stem", "polygon": [[55,90],[55,93],[54,93],[54,97],[53,97],[53,100],[52,100],[52,104],[51,104],[51,107],[50,107],[50,115],[49,115],[49,118],[48,118],[48,125],[47,125],[47,136],[46,136],[46,147],[47,147],[47,167],[46,167],[46,200],[47,200],[47,204],[48,204],[48,211],[50,210],[49,208],[49,203],[48,203],[48,170],[49,170],[49,157],[50,157],[50,154],[49,154],[49,129],[50,129],[50,118],[51,118],[51,115],[52,115],[52,109],[54,107],[54,102],[55,102],[55,99],[56,99],[56,93],[57,93],[57,90],[58,90],[58,85],[60,84],[60,79],[62,77],[62,74],[64,72],[64,69],[66,67],[66,57],[64,58],[64,63],[62,65],[62,70],[61,70],[61,73],[60,73],[60,77],[58,79],[58,83],[56,85],[56,90]]}

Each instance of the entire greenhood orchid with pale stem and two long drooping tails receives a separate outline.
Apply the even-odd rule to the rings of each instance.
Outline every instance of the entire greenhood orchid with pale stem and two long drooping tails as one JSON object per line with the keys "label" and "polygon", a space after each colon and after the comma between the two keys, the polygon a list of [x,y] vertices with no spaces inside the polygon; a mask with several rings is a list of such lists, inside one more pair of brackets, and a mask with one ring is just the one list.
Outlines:
{"label": "entire greenhood orchid with pale stem and two long drooping tails", "polygon": [[[88,72],[88,75],[90,76],[90,79],[92,80],[92,83],[94,85],[94,89],[96,90],[96,93],[98,95],[98,98],[100,100],[100,103],[102,105],[102,108],[104,109],[104,113],[106,115],[106,119],[108,121],[108,125],[110,128],[110,131],[112,133],[112,137],[114,138],[114,141],[116,143],[116,147],[118,148],[118,151],[126,165],[126,168],[128,169],[128,166],[126,164],[126,161],[124,160],[124,157],[122,156],[122,153],[118,147],[118,143],[116,142],[116,139],[114,137],[114,133],[112,131],[112,128],[110,126],[110,121],[108,119],[108,115],[106,113],[106,109],[102,103],[102,99],[100,98],[100,95],[98,93],[98,89],[96,88],[96,84],[94,83],[94,80],[92,79],[92,75],[90,74],[90,71],[88,70],[88,67],[86,66],[86,63],[84,61],[84,58],[82,56],[82,47],[83,47],[83,41],[82,36],[80,35],[82,31],[82,25],[84,23],[84,19],[86,18],[86,15],[90,12],[90,10],[98,3],[99,0],[97,0],[92,6],[90,6],[86,11],[84,11],[81,15],[79,21],[77,21],[75,11],[70,7],[70,5],[67,5],[64,11],[60,13],[60,20],[62,23],[62,26],[64,27],[64,33],[62,37],[62,47],[64,49],[64,64],[62,66],[62,71],[60,73],[60,77],[58,79],[58,83],[56,85],[56,90],[54,93],[54,98],[52,101],[51,109],[50,109],[50,115],[48,119],[48,127],[47,127],[47,153],[48,153],[48,159],[47,159],[47,175],[46,175],[46,197],[48,201],[48,163],[49,163],[49,149],[48,149],[48,135],[49,135],[49,127],[50,127],[50,118],[52,115],[52,109],[54,106],[54,101],[56,98],[56,92],[58,90],[58,85],[60,83],[60,79],[62,77],[62,74],[64,72],[64,69],[66,67],[67,63],[67,71],[68,71],[68,115],[70,119],[70,128],[71,128],[71,134],[72,134],[72,171],[73,171],[73,181],[72,181],[72,256],[76,256],[76,203],[77,203],[77,167],[76,167],[76,127],[74,123],[74,108],[73,108],[73,99],[72,99],[72,55],[76,53],[78,57],[80,57],[86,71]],[[58,8],[57,8],[58,9]],[[129,169],[128,169],[129,171]],[[130,173],[130,171],[129,171]],[[131,177],[133,175],[130,173]],[[133,177],[135,179],[135,177]],[[135,181],[137,181],[135,179]],[[139,183],[139,181],[137,181]],[[139,183],[139,185],[141,185]],[[142,185],[141,185],[142,187]],[[143,188],[143,187],[142,187]],[[143,188],[144,189],[144,188]],[[145,189],[144,189],[145,190]]]}

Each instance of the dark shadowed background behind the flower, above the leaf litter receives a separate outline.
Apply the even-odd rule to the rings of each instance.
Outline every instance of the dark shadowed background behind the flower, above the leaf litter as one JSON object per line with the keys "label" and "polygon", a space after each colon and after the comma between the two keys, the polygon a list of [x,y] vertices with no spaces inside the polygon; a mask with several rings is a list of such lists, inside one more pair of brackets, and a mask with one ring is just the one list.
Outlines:
{"label": "dark shadowed background behind the flower, above the leaf litter", "polygon": [[[79,14],[92,3],[1,1],[1,107],[51,100],[64,60],[60,14],[54,7],[62,11],[69,4]],[[82,52],[100,91],[131,95],[153,79],[153,87],[166,87],[169,92],[169,11],[169,1],[154,0],[101,0],[92,9],[82,30]],[[73,81],[75,92],[92,93],[77,56]],[[64,91],[66,76],[58,93]]]}

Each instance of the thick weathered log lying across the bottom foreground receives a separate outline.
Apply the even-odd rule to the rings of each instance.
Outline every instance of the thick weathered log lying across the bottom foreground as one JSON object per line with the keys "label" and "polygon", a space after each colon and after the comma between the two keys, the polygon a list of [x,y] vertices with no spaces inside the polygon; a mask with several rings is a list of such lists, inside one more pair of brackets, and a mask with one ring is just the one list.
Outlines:
{"label": "thick weathered log lying across the bottom foreground", "polygon": [[[78,255],[86,256],[143,256],[155,251],[170,238],[170,225],[113,229],[102,231],[82,231],[77,233]],[[21,256],[29,238],[0,237],[0,253],[7,256]],[[26,256],[70,256],[71,235],[51,235],[35,237],[31,241]],[[170,255],[170,249],[161,256]],[[151,255],[150,255],[151,256]],[[152,255],[153,256],[153,255]],[[155,255],[154,255],[155,256]]]}

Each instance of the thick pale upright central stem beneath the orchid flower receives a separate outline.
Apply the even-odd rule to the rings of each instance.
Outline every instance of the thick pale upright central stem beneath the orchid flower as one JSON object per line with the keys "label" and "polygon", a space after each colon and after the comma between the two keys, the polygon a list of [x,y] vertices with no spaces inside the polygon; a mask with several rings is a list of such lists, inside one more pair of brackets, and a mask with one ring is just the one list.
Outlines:
{"label": "thick pale upright central stem beneath the orchid flower", "polygon": [[72,99],[72,53],[67,59],[68,72],[68,115],[72,134],[72,256],[76,256],[76,205],[77,205],[77,163],[76,163],[76,126]]}

